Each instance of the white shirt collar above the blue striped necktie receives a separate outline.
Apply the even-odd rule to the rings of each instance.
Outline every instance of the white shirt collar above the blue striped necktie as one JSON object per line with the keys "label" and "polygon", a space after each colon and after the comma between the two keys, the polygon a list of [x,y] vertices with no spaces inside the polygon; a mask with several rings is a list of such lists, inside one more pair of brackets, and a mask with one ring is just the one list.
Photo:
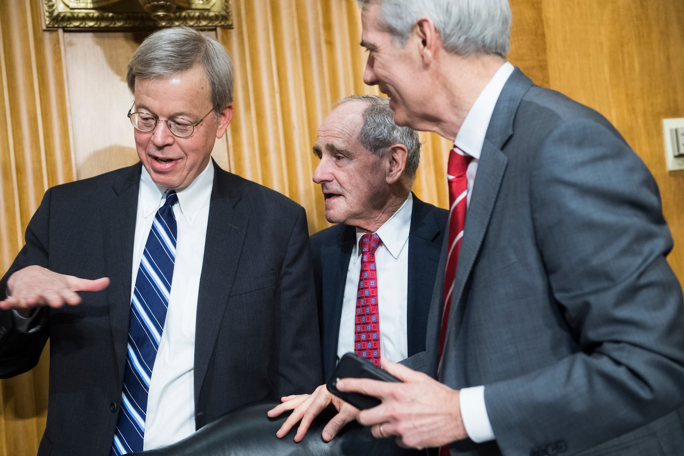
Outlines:
{"label": "white shirt collar above the blue striped necktie", "polygon": [[[205,170],[202,171],[185,189],[176,192],[181,214],[183,214],[187,224],[190,226],[192,226],[197,218],[197,214],[200,212],[200,209],[202,209],[204,202],[211,195],[213,176],[214,169],[212,159],[209,159],[209,163],[207,164],[207,167],[205,167]],[[155,214],[157,209],[163,206],[165,200],[166,189],[161,187],[161,185],[157,185],[143,166],[142,174],[140,174],[139,204],[142,204],[144,217]]]}

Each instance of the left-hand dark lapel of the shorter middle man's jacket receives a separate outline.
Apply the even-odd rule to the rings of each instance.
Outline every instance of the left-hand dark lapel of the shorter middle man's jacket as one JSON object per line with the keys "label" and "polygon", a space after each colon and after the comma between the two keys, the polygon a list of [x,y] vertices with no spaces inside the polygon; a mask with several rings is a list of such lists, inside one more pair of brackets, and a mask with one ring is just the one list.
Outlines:
{"label": "left-hand dark lapel of the shorter middle man's jacket", "polygon": [[[344,300],[347,271],[349,269],[356,230],[353,226],[340,226],[337,243],[321,249],[323,260],[323,324],[326,338],[324,340],[324,373],[326,377],[332,373],[337,356],[342,304]],[[350,338],[352,335],[350,335]]]}

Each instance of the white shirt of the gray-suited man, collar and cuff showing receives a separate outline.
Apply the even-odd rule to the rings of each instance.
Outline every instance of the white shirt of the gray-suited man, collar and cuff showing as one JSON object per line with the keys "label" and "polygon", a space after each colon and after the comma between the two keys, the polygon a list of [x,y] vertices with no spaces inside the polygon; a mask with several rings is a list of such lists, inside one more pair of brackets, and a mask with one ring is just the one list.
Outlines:
{"label": "white shirt of the gray-suited man, collar and cuff showing", "polygon": [[[473,161],[470,162],[468,170],[466,170],[466,179],[468,180],[466,203],[468,206],[470,206],[475,174],[477,174],[477,163],[479,163],[479,156],[482,153],[482,145],[489,128],[489,121],[492,118],[503,85],[508,81],[514,69],[514,66],[508,62],[499,68],[482,90],[482,93],[479,94],[471,110],[468,111],[468,115],[453,142],[460,150],[473,157]],[[463,426],[466,428],[469,438],[476,443],[494,440],[496,437],[484,403],[484,386],[463,388],[460,392],[459,401]]]}

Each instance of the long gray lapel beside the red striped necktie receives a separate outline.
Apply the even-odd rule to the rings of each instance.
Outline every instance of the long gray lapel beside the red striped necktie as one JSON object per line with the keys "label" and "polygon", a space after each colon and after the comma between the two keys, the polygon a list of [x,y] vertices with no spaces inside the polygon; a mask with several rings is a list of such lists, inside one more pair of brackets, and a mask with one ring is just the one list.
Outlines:
{"label": "long gray lapel beside the red striped necktie", "polygon": [[[508,157],[501,152],[501,149],[513,135],[516,111],[518,111],[523,96],[532,85],[532,81],[519,68],[516,68],[503,86],[492,112],[492,118],[482,146],[482,154],[477,165],[473,195],[466,214],[463,241],[456,267],[456,280],[453,284],[444,354],[447,353],[448,347],[458,336],[460,317],[464,312],[462,297],[466,282],[470,277],[475,258],[477,258],[479,248],[484,240],[499,195],[501,181],[508,165]],[[444,269],[441,267],[440,273],[444,273]]]}

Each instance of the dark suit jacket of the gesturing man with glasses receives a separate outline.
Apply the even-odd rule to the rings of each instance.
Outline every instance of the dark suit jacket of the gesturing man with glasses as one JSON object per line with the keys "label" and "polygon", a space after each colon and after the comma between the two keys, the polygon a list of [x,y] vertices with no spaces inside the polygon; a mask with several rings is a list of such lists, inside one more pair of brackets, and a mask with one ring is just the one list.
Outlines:
{"label": "dark suit jacket of the gesturing man with glasses", "polygon": [[[33,368],[50,338],[39,456],[109,455],[126,364],[141,170],[137,163],[49,189],[0,280],[5,299],[10,274],[28,265],[111,279],[107,289],[83,293],[79,306],[43,308],[29,333],[0,311],[0,378]],[[238,405],[321,384],[304,208],[215,164],[214,172],[197,301],[197,429]]]}

